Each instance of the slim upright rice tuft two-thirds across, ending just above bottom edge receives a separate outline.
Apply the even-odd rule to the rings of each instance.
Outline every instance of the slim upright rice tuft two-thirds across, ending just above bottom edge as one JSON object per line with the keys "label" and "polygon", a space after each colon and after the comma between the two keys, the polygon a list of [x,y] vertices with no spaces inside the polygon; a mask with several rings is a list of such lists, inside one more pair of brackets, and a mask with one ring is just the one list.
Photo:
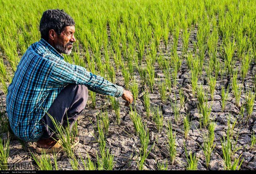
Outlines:
{"label": "slim upright rice tuft two-thirds across, ending just above bottom edge", "polygon": [[173,165],[174,159],[177,154],[177,145],[175,143],[176,132],[174,132],[174,134],[173,134],[172,123],[169,124],[169,121],[168,121],[167,138],[168,138],[167,142],[168,142],[168,148],[169,148],[169,153],[170,153],[170,162]]}

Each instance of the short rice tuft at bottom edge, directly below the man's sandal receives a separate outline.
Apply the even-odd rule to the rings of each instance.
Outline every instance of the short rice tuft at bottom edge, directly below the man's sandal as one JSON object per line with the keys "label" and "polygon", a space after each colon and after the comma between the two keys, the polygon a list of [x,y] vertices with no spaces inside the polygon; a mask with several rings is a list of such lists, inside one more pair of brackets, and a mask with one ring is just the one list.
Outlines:
{"label": "short rice tuft at bottom edge, directly below the man's sandal", "polygon": [[[57,156],[54,152],[53,158],[54,158],[54,167],[55,170],[58,169],[57,167]],[[32,152],[30,152],[31,158],[35,161],[35,163],[38,166],[38,170],[54,170],[52,166],[52,161],[49,154],[46,154],[45,151],[42,151],[42,155],[38,156]]]}

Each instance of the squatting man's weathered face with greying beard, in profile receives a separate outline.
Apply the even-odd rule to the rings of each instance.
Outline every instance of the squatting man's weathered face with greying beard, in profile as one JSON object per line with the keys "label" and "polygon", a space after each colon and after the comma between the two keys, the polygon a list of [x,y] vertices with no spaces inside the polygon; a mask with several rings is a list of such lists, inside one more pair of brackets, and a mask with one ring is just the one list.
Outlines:
{"label": "squatting man's weathered face with greying beard, in profile", "polygon": [[56,50],[59,53],[70,54],[73,48],[73,43],[76,42],[74,37],[75,26],[67,26],[61,32],[60,35],[57,35],[57,38],[54,39]]}

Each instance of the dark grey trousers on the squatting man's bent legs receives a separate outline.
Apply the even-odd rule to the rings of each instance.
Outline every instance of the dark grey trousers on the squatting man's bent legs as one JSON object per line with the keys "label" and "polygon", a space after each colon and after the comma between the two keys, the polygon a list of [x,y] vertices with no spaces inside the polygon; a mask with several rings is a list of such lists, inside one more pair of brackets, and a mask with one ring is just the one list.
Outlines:
{"label": "dark grey trousers on the squatting man's bent legs", "polygon": [[[85,85],[69,84],[61,90],[57,98],[50,106],[48,113],[53,119],[67,127],[71,131],[78,116],[82,113],[88,99],[88,89]],[[41,121],[44,124],[44,133],[41,139],[50,137],[56,138],[54,124],[48,114],[42,117]]]}

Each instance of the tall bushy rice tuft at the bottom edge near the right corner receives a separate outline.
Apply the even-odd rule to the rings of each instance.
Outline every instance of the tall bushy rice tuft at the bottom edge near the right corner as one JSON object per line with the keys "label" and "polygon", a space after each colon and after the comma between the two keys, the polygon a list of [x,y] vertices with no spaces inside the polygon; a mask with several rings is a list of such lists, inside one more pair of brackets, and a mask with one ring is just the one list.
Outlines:
{"label": "tall bushy rice tuft at the bottom edge near the right corner", "polygon": [[236,147],[237,144],[237,138],[238,135],[236,137],[236,139],[233,139],[233,129],[235,127],[236,121],[233,123],[232,127],[230,127],[230,115],[229,115],[229,119],[227,121],[227,131],[226,131],[226,138],[223,137],[223,139],[221,139],[221,146],[222,146],[222,153],[223,153],[223,161],[224,161],[224,170],[239,170],[242,162],[244,159],[242,159],[242,161],[239,164],[241,155],[238,158],[234,158],[234,162],[232,164],[231,159],[233,154],[239,150],[239,147]]}

